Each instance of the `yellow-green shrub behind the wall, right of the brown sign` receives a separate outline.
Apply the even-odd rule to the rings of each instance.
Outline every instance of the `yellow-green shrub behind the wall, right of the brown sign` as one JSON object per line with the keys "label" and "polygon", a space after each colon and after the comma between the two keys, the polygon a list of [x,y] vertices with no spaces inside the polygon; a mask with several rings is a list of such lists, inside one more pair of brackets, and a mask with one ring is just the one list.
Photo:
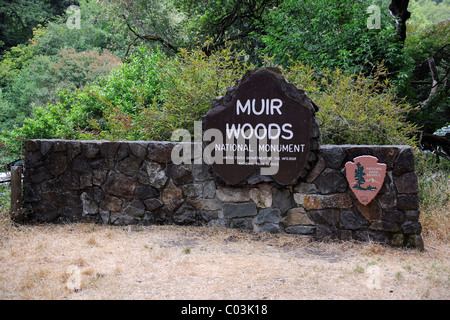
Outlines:
{"label": "yellow-green shrub behind the wall, right of the brown sign", "polygon": [[323,144],[415,144],[417,127],[406,120],[412,110],[397,101],[379,66],[372,77],[336,69],[316,72],[292,63],[287,78],[319,106]]}

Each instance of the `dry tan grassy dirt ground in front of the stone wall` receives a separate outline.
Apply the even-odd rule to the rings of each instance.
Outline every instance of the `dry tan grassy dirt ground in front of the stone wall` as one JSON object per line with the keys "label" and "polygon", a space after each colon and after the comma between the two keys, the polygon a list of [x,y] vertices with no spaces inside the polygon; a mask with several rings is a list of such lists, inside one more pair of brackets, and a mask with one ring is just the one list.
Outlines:
{"label": "dry tan grassy dirt ground in front of the stone wall", "polygon": [[0,299],[449,299],[425,251],[226,228],[24,225],[0,233]]}

